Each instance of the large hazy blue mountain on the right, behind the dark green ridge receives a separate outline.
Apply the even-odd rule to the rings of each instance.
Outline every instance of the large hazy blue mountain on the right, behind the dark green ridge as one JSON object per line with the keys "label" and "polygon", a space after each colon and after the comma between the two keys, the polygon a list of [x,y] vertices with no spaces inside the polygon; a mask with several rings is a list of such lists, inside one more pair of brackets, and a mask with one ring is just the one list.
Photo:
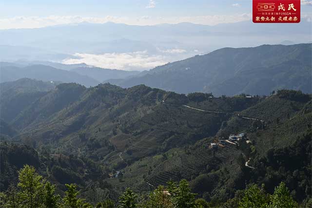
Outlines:
{"label": "large hazy blue mountain on the right, behind the dark green ridge", "polygon": [[183,94],[268,95],[277,89],[311,93],[311,63],[312,44],[223,48],[109,82],[121,87],[145,84]]}

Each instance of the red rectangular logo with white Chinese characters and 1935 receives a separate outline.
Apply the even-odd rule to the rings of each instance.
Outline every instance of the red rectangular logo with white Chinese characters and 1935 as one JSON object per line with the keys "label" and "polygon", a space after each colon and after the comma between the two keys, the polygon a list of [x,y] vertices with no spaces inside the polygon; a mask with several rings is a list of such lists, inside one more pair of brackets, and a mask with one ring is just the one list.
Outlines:
{"label": "red rectangular logo with white Chinese characters and 1935", "polygon": [[253,0],[254,23],[299,23],[300,0]]}

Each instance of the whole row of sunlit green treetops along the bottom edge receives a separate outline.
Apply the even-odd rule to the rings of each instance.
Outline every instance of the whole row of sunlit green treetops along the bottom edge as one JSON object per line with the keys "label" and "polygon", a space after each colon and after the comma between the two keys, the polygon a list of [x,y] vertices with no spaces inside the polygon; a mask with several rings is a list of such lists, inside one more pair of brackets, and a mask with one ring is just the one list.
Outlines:
{"label": "whole row of sunlit green treetops along the bottom edge", "polygon": [[[297,203],[290,196],[285,183],[275,187],[272,195],[264,188],[252,185],[237,194],[228,202],[214,205],[204,199],[195,199],[188,182],[183,179],[179,183],[168,182],[168,186],[158,186],[149,195],[138,196],[130,188],[119,197],[118,202],[104,199],[96,205],[79,198],[76,184],[66,184],[67,190],[63,197],[56,194],[56,188],[35,168],[25,165],[19,171],[17,187],[11,186],[7,191],[0,192],[1,208],[295,208]],[[238,192],[239,193],[239,192]],[[312,205],[312,201],[307,204]]]}

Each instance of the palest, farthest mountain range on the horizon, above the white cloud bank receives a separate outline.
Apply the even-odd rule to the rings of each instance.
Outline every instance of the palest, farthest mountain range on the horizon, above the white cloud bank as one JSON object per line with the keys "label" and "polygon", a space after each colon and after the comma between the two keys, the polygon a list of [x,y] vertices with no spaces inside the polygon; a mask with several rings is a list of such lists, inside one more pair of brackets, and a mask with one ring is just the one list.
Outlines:
{"label": "palest, farthest mountain range on the horizon, above the white cloud bank", "polygon": [[[263,34],[263,31],[266,33]],[[211,51],[226,46],[245,47],[276,44],[283,40],[295,41],[299,39],[296,37],[303,42],[311,41],[311,22],[302,19],[299,24],[259,25],[242,21],[215,26],[188,22],[148,26],[83,22],[37,29],[0,30],[2,45],[38,47],[65,54],[153,51],[157,50],[156,47],[167,48],[162,42],[175,42],[176,47],[198,47],[200,51]]]}

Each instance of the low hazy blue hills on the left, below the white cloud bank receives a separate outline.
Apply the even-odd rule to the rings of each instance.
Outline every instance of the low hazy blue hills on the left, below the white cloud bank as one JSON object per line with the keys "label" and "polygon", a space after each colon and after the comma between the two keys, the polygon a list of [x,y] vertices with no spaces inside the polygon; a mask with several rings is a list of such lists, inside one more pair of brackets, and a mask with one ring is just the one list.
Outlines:
{"label": "low hazy blue hills on the left, below the white cloud bank", "polygon": [[[45,65],[33,65],[34,63]],[[137,71],[102,69],[86,64],[67,65],[47,61],[0,62],[0,83],[20,78],[32,78],[42,81],[76,82],[89,87],[98,85],[107,79],[126,78],[137,74],[139,74]]]}

